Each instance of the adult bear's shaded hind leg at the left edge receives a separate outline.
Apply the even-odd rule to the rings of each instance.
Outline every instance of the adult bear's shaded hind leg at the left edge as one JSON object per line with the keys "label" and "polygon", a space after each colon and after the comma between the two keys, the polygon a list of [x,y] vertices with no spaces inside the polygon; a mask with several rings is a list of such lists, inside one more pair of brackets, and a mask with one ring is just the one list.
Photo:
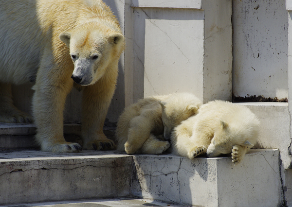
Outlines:
{"label": "adult bear's shaded hind leg at the left edge", "polygon": [[0,83],[0,122],[32,123],[33,118],[13,105],[11,84]]}

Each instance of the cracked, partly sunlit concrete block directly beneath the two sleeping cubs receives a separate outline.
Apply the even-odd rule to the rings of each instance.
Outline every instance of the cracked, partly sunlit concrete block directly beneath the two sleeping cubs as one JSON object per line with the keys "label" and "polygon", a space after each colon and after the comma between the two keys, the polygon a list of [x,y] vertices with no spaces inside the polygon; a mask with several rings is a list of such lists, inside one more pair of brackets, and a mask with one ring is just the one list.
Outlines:
{"label": "cracked, partly sunlit concrete block directly beneath the two sleeping cubs", "polygon": [[208,207],[272,207],[283,200],[278,150],[253,150],[236,166],[230,157],[133,158],[134,196]]}

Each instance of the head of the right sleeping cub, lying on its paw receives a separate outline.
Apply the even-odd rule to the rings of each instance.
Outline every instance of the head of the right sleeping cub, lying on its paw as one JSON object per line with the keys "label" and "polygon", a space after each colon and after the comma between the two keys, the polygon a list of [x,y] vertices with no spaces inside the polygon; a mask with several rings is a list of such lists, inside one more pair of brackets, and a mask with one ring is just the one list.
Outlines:
{"label": "head of the right sleeping cub, lying on its paw", "polygon": [[221,154],[230,154],[234,145],[251,148],[254,145],[247,139],[250,132],[244,126],[229,126],[225,121],[220,121],[215,130],[214,137],[207,149],[207,157],[216,157]]}

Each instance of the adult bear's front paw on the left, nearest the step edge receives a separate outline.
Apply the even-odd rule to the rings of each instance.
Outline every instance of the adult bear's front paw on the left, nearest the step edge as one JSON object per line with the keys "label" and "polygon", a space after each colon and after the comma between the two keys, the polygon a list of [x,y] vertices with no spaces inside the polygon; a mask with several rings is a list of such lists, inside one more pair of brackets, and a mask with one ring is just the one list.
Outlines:
{"label": "adult bear's front paw on the left, nearest the step edge", "polygon": [[78,143],[63,142],[49,146],[42,145],[41,150],[52,153],[78,153],[82,151],[82,147]]}

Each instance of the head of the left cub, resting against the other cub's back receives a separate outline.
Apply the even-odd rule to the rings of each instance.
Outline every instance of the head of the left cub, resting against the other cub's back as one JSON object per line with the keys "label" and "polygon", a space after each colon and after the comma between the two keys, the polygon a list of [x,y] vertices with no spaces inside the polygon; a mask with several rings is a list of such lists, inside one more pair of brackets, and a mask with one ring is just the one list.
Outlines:
{"label": "head of the left cub, resting against the other cub's back", "polygon": [[195,115],[202,104],[200,99],[191,93],[174,93],[159,103],[162,107],[164,139],[170,139],[172,129]]}

